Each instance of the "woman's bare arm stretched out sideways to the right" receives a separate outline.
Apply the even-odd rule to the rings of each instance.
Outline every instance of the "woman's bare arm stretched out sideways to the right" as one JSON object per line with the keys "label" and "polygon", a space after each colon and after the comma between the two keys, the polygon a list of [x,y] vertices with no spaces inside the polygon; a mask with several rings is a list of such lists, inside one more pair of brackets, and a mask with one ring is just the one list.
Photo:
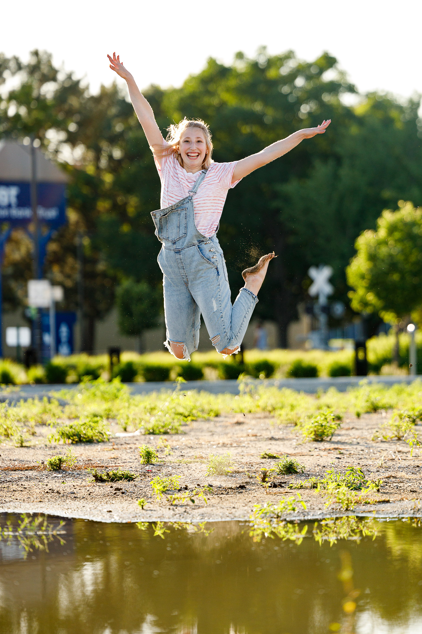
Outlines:
{"label": "woman's bare arm stretched out sideways to the right", "polygon": [[290,152],[290,150],[293,150],[293,148],[299,145],[303,139],[311,139],[316,134],[324,134],[330,123],[331,119],[324,121],[318,127],[306,127],[303,130],[298,130],[290,134],[290,136],[287,136],[287,138],[269,145],[261,150],[261,152],[251,154],[250,157],[239,160],[233,172],[232,183],[251,174],[251,172],[258,169],[258,167],[263,167],[263,165],[270,163],[272,160],[282,157],[283,154]]}

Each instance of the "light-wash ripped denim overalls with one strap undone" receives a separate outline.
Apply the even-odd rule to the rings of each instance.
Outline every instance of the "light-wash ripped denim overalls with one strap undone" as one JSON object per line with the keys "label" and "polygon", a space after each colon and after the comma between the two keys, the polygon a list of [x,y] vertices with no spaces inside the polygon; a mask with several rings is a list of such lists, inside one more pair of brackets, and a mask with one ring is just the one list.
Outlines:
{"label": "light-wash ripped denim overalls with one strap undone", "polygon": [[[241,288],[233,306],[227,269],[216,233],[206,238],[197,230],[194,195],[206,177],[202,171],[189,196],[152,211],[156,236],[163,243],[158,264],[163,271],[166,341],[184,344],[183,358],[198,347],[201,313],[218,352],[236,349],[244,338],[258,297]],[[217,228],[218,230],[218,228]]]}

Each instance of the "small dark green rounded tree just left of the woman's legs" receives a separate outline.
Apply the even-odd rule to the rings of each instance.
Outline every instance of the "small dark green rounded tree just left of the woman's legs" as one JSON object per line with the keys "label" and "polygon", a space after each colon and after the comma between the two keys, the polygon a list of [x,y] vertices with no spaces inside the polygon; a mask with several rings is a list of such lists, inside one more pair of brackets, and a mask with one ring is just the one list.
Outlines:
{"label": "small dark green rounded tree just left of the woman's legs", "polygon": [[120,332],[140,338],[146,328],[158,325],[163,304],[162,289],[159,292],[146,281],[125,280],[117,288],[116,304]]}

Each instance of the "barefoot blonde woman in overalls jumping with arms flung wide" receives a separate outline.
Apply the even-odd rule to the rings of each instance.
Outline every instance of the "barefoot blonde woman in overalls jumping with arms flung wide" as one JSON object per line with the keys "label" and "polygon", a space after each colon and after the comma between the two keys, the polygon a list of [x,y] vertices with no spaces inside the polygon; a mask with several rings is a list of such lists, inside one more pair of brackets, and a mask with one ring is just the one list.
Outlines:
{"label": "barefoot blonde woman in overalls jumping with arms flung wide", "polygon": [[218,223],[227,192],[258,167],[278,159],[303,139],[325,133],[321,126],[299,130],[257,154],[231,163],[214,163],[208,125],[183,119],[168,128],[166,139],[154,113],[119,56],[108,55],[110,68],[128,85],[130,99],[154,155],[161,180],[161,207],[151,213],[162,243],[158,264],[163,271],[166,341],[178,359],[190,360],[198,347],[201,314],[219,353],[239,351],[258,291],[274,252],[245,269],[245,285],[232,306]]}

